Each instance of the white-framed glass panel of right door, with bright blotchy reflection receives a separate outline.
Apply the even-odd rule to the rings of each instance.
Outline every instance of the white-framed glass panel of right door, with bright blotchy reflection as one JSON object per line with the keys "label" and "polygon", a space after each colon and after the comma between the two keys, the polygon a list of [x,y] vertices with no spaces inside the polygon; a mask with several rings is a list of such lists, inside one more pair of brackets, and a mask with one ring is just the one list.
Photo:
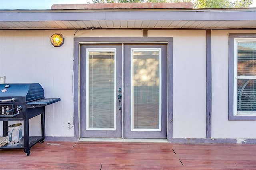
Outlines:
{"label": "white-framed glass panel of right door, with bright blotchy reflection", "polygon": [[132,129],[160,127],[160,49],[132,49]]}

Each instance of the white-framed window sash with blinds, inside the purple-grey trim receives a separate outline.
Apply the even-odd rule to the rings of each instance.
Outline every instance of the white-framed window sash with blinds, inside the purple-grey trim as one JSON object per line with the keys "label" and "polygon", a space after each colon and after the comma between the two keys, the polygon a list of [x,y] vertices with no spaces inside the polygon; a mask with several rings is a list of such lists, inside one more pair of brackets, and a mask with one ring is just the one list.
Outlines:
{"label": "white-framed window sash with blinds, inside the purple-grey trim", "polygon": [[236,115],[256,115],[256,40],[235,39]]}

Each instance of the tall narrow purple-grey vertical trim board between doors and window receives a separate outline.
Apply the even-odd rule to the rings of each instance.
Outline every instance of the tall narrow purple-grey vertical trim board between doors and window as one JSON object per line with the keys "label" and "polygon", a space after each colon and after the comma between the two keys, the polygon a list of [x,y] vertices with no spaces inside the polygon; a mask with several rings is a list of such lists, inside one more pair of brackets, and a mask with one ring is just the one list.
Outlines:
{"label": "tall narrow purple-grey vertical trim board between doors and window", "polygon": [[212,138],[212,30],[206,30],[206,138]]}

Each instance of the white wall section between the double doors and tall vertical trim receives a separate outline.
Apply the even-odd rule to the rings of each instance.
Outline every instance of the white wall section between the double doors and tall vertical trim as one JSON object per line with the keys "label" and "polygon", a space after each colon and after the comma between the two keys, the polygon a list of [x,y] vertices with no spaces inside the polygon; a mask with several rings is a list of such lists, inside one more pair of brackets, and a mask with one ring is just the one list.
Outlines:
{"label": "white wall section between the double doors and tall vertical trim", "polygon": [[173,138],[205,138],[205,30],[149,30],[148,36],[173,37]]}

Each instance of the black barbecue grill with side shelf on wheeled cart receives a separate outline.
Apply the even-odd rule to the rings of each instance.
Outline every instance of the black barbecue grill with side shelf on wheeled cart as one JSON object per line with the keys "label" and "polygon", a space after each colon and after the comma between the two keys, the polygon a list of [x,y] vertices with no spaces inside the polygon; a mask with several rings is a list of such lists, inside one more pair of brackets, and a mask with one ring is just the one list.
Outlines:
{"label": "black barbecue grill with side shelf on wheeled cart", "polygon": [[[3,121],[3,136],[8,136],[8,121],[23,121],[24,137],[18,144],[6,144],[2,148],[24,148],[27,156],[37,142],[44,142],[44,106],[60,101],[60,98],[45,99],[39,83],[0,84],[0,121]],[[29,119],[41,115],[41,136],[29,135]]]}

